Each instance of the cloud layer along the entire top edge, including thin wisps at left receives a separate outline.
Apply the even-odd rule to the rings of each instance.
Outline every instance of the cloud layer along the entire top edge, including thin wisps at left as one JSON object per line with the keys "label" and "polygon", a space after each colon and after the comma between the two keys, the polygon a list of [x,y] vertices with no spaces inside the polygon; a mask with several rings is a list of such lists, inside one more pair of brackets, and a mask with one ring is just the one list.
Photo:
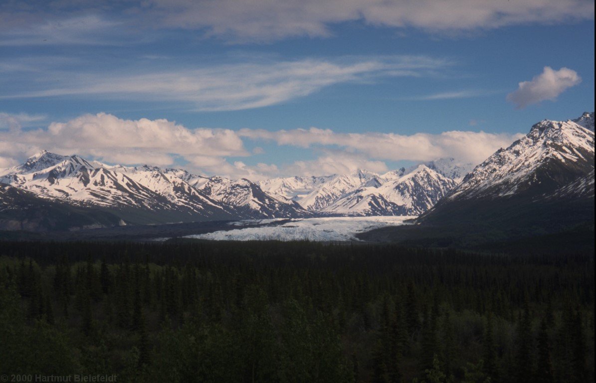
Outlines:
{"label": "cloud layer along the entire top edge, including thin wisps at left", "polygon": [[[85,17],[95,20],[86,24],[77,21]],[[0,35],[8,35],[4,39],[8,44],[41,43],[42,35],[26,31],[45,29],[51,36],[48,41],[80,43],[86,36],[91,43],[118,43],[108,36],[92,36],[93,30],[105,32],[104,23],[114,23],[120,30],[187,29],[243,43],[295,36],[324,38],[333,35],[335,24],[347,21],[394,29],[412,27],[444,35],[593,18],[594,2],[588,0],[21,0],[0,5]],[[69,36],[69,31],[78,34]],[[136,38],[142,39],[142,35]]]}

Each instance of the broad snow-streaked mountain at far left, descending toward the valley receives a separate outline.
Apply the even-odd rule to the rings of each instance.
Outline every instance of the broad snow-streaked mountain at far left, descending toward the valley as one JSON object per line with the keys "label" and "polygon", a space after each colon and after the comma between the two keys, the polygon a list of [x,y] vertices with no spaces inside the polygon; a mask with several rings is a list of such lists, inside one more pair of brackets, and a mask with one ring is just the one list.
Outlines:
{"label": "broad snow-streaked mountain at far left, descending toward the valley", "polygon": [[188,183],[156,168],[110,167],[78,155],[42,151],[0,172],[0,183],[76,206],[119,211],[125,222],[229,219],[233,207],[217,203]]}

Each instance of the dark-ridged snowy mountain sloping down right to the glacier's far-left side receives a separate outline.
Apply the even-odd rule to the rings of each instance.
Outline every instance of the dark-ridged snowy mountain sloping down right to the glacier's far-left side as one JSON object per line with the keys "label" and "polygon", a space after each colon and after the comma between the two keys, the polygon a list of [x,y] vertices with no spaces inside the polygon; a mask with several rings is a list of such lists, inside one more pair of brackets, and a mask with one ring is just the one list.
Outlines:
{"label": "dark-ridged snowy mountain sloping down right to the glacier's far-left side", "polygon": [[247,179],[231,180],[216,176],[206,182],[200,180],[194,186],[214,200],[246,209],[253,216],[268,218],[311,216],[311,213],[299,204],[278,200]]}

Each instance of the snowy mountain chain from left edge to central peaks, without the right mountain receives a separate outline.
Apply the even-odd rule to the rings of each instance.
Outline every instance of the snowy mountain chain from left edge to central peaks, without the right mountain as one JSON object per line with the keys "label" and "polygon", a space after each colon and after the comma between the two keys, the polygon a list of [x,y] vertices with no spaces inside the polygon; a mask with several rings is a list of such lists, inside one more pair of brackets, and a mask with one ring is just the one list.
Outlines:
{"label": "snowy mountain chain from left edge to central peaks, without the right mountain", "polygon": [[[451,170],[454,160],[436,163],[440,169]],[[112,166],[44,150],[23,164],[0,170],[0,184],[3,205],[13,207],[0,210],[0,228],[45,230],[205,220],[416,216],[457,182],[425,164],[384,175],[358,170],[252,182],[149,165]],[[52,209],[24,214],[23,208],[14,208],[19,198]],[[86,218],[55,214],[58,210],[75,214],[72,209]]]}

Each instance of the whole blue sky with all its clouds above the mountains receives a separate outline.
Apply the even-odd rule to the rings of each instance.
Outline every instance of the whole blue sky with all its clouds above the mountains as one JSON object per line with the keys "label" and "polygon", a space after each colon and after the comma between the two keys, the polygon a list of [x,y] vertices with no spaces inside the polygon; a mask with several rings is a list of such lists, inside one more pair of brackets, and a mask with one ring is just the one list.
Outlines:
{"label": "whole blue sky with all its clouds above the mountains", "polygon": [[594,111],[591,0],[4,0],[0,167],[478,164]]}

